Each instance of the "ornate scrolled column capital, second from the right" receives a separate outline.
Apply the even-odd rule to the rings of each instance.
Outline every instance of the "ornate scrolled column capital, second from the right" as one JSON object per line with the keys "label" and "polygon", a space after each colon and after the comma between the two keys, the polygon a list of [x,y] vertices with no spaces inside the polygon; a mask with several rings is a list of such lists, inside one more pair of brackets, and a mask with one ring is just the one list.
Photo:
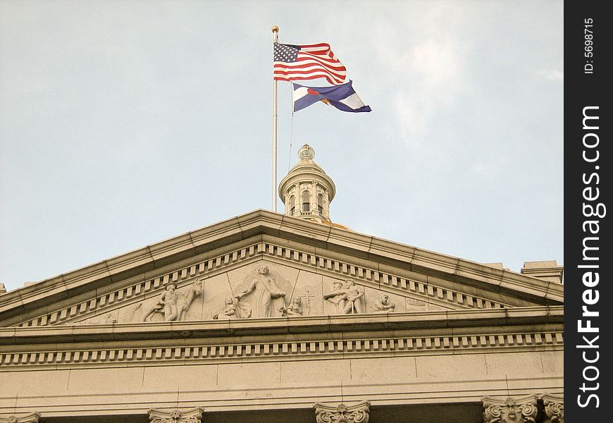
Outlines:
{"label": "ornate scrolled column capital, second from the right", "polygon": [[507,398],[501,400],[483,397],[484,423],[535,423],[538,415],[538,396]]}

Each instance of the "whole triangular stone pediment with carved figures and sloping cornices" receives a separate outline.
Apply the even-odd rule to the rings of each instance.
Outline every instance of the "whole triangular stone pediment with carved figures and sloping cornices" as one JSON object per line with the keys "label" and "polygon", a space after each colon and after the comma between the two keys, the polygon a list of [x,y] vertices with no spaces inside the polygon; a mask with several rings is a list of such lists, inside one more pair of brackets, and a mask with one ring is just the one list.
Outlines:
{"label": "whole triangular stone pediment with carved figures and sloping cornices", "polygon": [[563,292],[557,283],[259,210],[1,295],[0,326],[560,305]]}

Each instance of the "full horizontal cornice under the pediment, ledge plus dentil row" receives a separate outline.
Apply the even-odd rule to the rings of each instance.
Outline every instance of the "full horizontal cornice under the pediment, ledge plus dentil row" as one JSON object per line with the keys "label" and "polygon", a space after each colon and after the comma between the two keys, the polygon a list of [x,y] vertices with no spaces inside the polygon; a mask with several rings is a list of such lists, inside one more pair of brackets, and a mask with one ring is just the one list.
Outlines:
{"label": "full horizontal cornice under the pediment, ledge plus dentil row", "polygon": [[0,372],[560,352],[562,307],[0,329]]}

